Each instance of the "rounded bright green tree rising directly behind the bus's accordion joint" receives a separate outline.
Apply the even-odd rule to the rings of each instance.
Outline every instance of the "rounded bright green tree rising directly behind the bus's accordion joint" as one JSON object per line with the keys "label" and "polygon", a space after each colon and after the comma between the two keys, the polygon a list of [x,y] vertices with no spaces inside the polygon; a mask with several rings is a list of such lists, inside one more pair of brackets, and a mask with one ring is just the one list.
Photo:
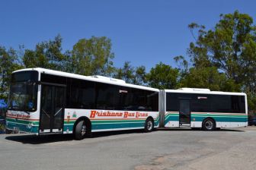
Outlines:
{"label": "rounded bright green tree rising directly behind the bus's accordion joint", "polygon": [[171,68],[170,65],[165,65],[162,62],[151,68],[149,74],[146,75],[149,87],[158,89],[175,89],[178,85],[178,68]]}

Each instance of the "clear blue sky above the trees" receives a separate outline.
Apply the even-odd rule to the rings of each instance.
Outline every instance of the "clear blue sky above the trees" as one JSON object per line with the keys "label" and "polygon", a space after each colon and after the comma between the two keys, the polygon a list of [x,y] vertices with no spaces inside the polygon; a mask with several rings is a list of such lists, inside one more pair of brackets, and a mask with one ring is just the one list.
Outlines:
{"label": "clear blue sky above the trees", "polygon": [[37,42],[63,38],[64,50],[78,39],[107,36],[114,65],[124,61],[145,65],[162,61],[175,67],[174,56],[186,55],[193,41],[191,22],[214,27],[219,14],[238,10],[256,18],[256,1],[0,1],[0,46],[34,49]]}

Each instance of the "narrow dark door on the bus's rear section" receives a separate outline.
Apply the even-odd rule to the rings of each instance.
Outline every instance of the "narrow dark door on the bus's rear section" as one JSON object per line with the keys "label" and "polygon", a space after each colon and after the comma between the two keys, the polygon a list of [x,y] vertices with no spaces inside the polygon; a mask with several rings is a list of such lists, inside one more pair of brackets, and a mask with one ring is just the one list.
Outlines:
{"label": "narrow dark door on the bus's rear section", "polygon": [[190,125],[190,100],[180,100],[180,125]]}

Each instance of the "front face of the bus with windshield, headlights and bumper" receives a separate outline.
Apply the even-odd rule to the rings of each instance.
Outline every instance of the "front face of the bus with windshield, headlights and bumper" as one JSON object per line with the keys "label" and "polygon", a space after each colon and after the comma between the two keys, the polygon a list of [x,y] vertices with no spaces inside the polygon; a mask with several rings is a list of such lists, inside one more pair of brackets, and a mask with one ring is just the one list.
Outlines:
{"label": "front face of the bus with windshield, headlights and bumper", "polygon": [[25,133],[38,133],[39,112],[38,72],[15,71],[11,74],[6,129]]}

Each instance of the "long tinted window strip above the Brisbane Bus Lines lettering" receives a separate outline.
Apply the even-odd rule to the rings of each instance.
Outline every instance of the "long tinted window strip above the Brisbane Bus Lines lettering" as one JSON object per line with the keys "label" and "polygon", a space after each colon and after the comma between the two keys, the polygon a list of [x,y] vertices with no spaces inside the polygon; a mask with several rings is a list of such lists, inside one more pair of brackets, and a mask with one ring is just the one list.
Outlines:
{"label": "long tinted window strip above the Brisbane Bus Lines lettering", "polygon": [[68,108],[158,111],[158,92],[48,74],[42,78],[49,83],[66,82]]}

